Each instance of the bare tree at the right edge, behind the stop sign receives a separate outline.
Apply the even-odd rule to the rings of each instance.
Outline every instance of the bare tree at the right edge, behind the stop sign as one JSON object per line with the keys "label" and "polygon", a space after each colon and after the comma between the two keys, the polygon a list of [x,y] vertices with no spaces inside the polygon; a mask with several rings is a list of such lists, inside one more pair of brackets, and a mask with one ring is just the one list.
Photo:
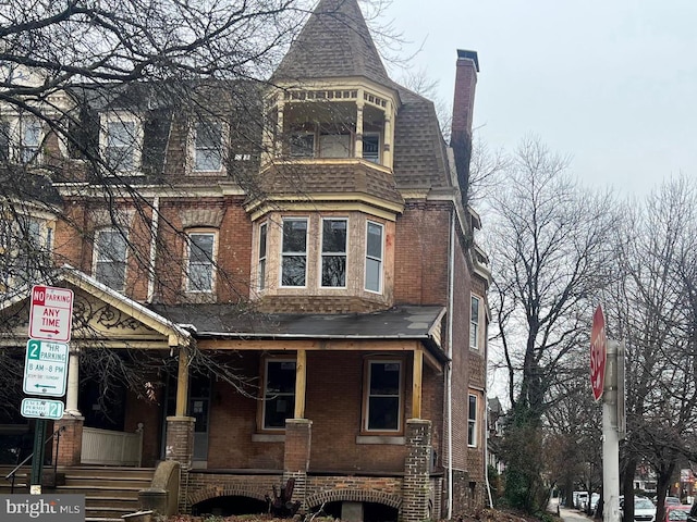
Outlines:
{"label": "bare tree at the right edge, behind the stop sign", "polygon": [[624,493],[638,464],[657,473],[659,513],[676,465],[692,456],[697,422],[694,287],[697,189],[664,184],[635,206],[620,243],[624,277],[608,288],[609,323],[626,343]]}

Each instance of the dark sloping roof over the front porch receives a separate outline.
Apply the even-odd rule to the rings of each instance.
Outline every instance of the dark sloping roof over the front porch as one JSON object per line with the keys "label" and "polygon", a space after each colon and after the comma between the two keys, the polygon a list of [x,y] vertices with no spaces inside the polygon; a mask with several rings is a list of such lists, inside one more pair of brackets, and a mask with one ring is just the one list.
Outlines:
{"label": "dark sloping roof over the front porch", "polygon": [[440,345],[444,307],[404,306],[369,313],[241,313],[230,304],[155,304],[151,309],[198,339],[420,340]]}

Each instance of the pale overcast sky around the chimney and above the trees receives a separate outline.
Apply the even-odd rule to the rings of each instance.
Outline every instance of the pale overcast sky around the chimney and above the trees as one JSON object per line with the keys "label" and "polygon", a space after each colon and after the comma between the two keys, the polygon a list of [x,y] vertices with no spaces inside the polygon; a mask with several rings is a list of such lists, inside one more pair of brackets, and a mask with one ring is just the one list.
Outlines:
{"label": "pale overcast sky around the chimney and above the trees", "polygon": [[449,105],[456,49],[478,52],[475,126],[490,148],[539,136],[620,195],[697,176],[697,1],[393,0],[383,17],[404,53],[423,46],[414,66]]}

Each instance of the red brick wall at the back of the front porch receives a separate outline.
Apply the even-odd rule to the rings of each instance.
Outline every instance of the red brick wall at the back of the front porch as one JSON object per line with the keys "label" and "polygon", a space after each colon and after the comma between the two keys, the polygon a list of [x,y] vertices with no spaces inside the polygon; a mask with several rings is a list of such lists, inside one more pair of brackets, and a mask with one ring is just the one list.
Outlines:
{"label": "red brick wall at the back of the front porch", "polygon": [[[291,357],[292,353],[291,353]],[[403,355],[399,355],[403,357]],[[400,445],[356,444],[360,434],[363,371],[365,352],[309,351],[305,415],[313,422],[310,472],[390,471],[402,472],[405,449]],[[411,412],[411,358],[405,357],[405,411]],[[260,368],[257,352],[235,359],[243,375],[256,377]],[[339,371],[340,369],[340,371]],[[256,390],[249,388],[249,394]],[[440,455],[442,420],[442,375],[429,368],[424,372],[423,417],[438,425],[433,445]],[[256,397],[256,395],[255,395]],[[260,407],[254,397],[240,395],[218,381],[213,386],[210,415],[208,467],[282,470],[284,442],[253,440]]]}

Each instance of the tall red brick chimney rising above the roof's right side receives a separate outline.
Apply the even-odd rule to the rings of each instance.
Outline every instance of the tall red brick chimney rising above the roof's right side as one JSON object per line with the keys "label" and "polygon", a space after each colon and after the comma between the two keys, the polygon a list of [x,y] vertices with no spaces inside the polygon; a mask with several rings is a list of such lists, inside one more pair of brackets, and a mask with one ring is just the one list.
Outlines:
{"label": "tall red brick chimney rising above the roof's right side", "polygon": [[453,100],[453,121],[450,146],[455,158],[457,179],[463,194],[463,203],[467,204],[467,185],[469,183],[469,158],[472,156],[472,122],[475,108],[475,87],[479,59],[476,51],[457,50],[455,71],[455,98]]}

